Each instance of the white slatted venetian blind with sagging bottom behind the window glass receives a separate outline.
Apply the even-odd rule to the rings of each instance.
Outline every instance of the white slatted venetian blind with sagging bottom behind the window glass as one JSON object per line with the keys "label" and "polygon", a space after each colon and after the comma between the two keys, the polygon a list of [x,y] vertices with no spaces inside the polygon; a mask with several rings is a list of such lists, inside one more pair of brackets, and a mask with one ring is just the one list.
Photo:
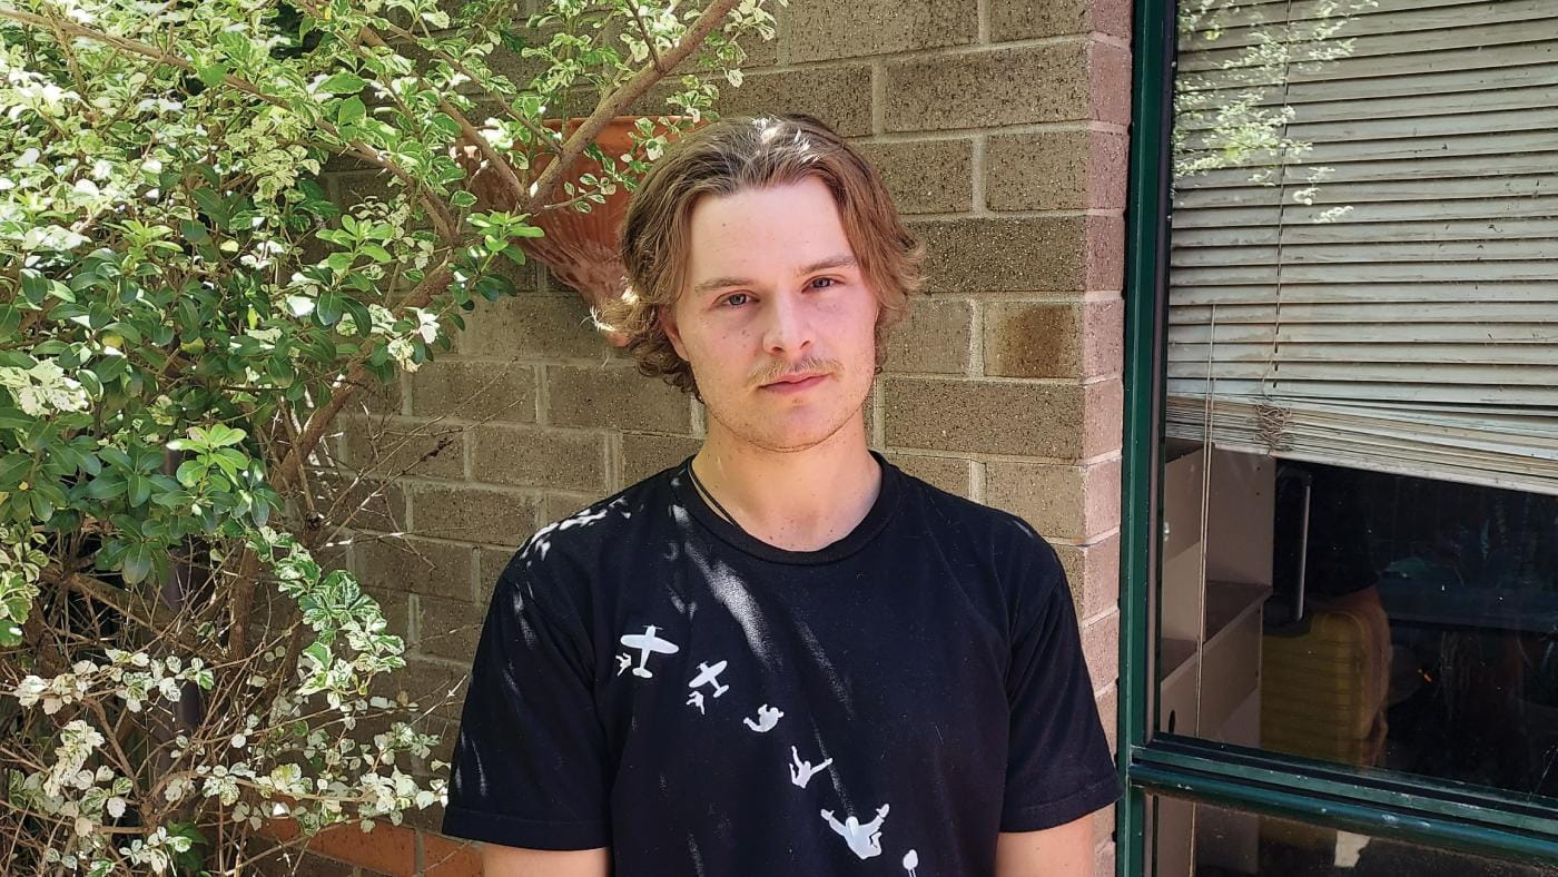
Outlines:
{"label": "white slatted venetian blind with sagging bottom behind the window glass", "polygon": [[[1254,89],[1312,150],[1276,185],[1176,182],[1168,433],[1558,492],[1558,0],[1379,0],[1345,58],[1226,69],[1327,6],[1242,3],[1217,39],[1181,36],[1201,97]],[[1207,118],[1184,131],[1190,154],[1225,145]]]}

